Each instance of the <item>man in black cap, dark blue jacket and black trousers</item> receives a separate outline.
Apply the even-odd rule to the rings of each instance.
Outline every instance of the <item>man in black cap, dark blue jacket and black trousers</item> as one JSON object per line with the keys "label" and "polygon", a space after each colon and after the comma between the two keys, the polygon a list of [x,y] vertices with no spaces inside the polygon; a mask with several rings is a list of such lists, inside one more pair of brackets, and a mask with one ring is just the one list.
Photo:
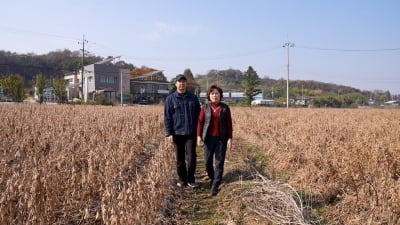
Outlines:
{"label": "man in black cap, dark blue jacket and black trousers", "polygon": [[187,79],[176,76],[176,91],[165,100],[165,136],[174,145],[179,187],[197,187],[196,170],[196,128],[200,113],[200,102],[196,95],[187,91]]}

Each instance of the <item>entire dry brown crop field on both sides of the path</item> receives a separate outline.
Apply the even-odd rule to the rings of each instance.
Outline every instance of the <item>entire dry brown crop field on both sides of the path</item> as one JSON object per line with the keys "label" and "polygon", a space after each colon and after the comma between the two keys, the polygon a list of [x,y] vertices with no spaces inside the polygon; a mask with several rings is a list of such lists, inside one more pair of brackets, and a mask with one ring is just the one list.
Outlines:
{"label": "entire dry brown crop field on both sides of the path", "polygon": [[[400,110],[233,107],[232,116],[234,151],[244,152],[229,159],[229,176],[243,159],[286,182],[323,218],[308,223],[400,223]],[[0,224],[182,224],[166,210],[179,195],[161,106],[12,104],[0,118]],[[221,201],[257,187],[224,185]],[[202,190],[187,191],[196,210],[216,208]]]}

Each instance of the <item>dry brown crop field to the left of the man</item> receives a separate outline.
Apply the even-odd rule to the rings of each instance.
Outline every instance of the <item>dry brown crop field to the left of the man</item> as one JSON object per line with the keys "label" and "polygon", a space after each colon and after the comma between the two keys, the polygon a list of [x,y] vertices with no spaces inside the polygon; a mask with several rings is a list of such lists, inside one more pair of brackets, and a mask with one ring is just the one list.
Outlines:
{"label": "dry brown crop field to the left of the man", "polygon": [[162,107],[2,105],[0,224],[154,224],[172,177]]}

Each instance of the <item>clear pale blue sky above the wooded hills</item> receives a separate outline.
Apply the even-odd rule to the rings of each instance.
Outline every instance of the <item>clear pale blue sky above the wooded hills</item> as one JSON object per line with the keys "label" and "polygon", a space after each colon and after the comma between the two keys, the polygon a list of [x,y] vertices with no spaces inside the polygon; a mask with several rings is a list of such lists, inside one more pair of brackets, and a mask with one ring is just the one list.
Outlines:
{"label": "clear pale blue sky above the wooded hills", "polygon": [[398,0],[13,0],[3,1],[0,49],[79,50],[122,56],[170,79],[190,68],[252,66],[287,77],[400,94]]}

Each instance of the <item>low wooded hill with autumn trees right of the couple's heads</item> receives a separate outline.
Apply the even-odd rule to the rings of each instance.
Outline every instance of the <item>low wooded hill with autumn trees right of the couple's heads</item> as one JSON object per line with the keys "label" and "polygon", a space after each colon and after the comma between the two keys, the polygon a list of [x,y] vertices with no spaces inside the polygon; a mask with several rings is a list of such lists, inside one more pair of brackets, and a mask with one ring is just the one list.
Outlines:
{"label": "low wooded hill with autumn trees right of the couple's heads", "polygon": [[[254,81],[251,85],[245,84],[243,86],[243,82],[247,82],[246,73],[253,74],[251,79],[254,79]],[[273,99],[278,104],[286,102],[287,81],[269,77],[260,78],[251,67],[245,73],[235,69],[210,70],[207,74],[197,75],[196,81],[200,84],[201,90],[206,90],[207,86],[215,83],[221,86],[224,91],[244,91],[246,95],[246,90],[255,90],[255,95],[263,93],[264,99]],[[371,101],[374,104],[382,104],[391,99],[399,99],[400,96],[391,95],[389,91],[383,90],[361,91],[353,87],[332,83],[291,80],[289,81],[289,98],[311,98],[313,99],[312,105],[316,107],[355,107],[367,105]],[[249,99],[246,101],[248,103]]]}

